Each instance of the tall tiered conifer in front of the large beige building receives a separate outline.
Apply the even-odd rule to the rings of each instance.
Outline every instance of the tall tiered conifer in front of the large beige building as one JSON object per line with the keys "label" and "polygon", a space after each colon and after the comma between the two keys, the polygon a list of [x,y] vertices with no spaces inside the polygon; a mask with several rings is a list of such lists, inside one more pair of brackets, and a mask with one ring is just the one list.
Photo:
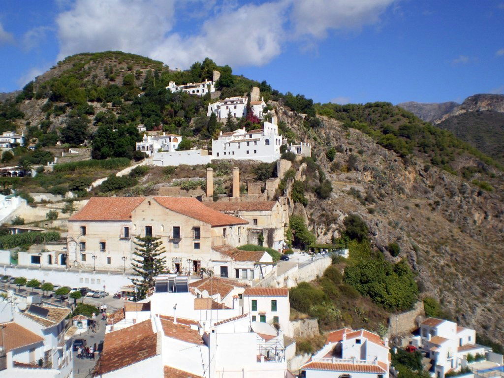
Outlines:
{"label": "tall tiered conifer in front of the large beige building", "polygon": [[133,259],[133,270],[135,275],[140,278],[132,278],[133,284],[138,290],[137,299],[145,298],[147,290],[154,287],[154,278],[159,274],[166,273],[165,260],[166,257],[161,257],[164,252],[160,237],[137,236],[134,243],[138,245],[133,253],[137,256]]}

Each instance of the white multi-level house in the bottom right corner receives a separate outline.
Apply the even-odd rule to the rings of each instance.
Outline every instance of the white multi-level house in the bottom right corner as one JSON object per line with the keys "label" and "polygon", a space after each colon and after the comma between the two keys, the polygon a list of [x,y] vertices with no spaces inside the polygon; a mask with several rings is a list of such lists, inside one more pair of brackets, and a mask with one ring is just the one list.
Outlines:
{"label": "white multi-level house in the bottom right corner", "polygon": [[467,366],[468,354],[488,356],[491,352],[491,348],[476,344],[475,330],[436,318],[427,318],[421,323],[420,336],[413,338],[412,344],[427,352],[432,365],[430,373],[436,378]]}

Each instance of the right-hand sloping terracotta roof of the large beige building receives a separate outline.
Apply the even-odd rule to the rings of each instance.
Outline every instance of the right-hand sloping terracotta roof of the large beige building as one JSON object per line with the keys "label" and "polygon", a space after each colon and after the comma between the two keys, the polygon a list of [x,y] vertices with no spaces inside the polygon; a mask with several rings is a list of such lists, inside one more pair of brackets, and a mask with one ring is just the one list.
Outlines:
{"label": "right-hand sloping terracotta roof of the large beige building", "polygon": [[235,224],[248,224],[248,221],[222,214],[216,210],[205,206],[196,198],[188,197],[154,197],[154,200],[161,206],[210,224],[211,226],[227,226]]}

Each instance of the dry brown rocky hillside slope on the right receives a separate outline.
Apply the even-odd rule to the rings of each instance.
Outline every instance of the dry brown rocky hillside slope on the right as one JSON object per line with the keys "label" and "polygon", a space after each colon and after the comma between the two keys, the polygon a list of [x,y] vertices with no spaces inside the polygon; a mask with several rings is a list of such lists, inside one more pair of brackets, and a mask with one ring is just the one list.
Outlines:
{"label": "dry brown rocky hillside slope on the right", "polygon": [[[280,113],[281,120],[312,143],[333,185],[328,200],[309,195],[308,224],[318,241],[330,242],[346,215],[359,214],[386,258],[408,259],[418,273],[422,295],[436,297],[461,324],[504,341],[504,279],[499,274],[504,268],[502,172],[493,172],[495,190],[483,192],[418,157],[405,163],[336,120],[323,117],[324,126],[307,134],[291,113]],[[338,151],[334,162],[326,158],[328,145]],[[348,170],[351,154],[357,163]],[[467,164],[473,158],[460,159]],[[399,257],[388,253],[391,242],[400,245]]]}

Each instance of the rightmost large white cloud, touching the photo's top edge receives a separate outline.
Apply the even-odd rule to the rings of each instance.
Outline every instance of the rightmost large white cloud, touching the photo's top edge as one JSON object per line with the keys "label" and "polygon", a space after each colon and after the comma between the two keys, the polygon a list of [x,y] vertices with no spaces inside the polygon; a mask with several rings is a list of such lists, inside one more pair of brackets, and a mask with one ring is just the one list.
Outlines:
{"label": "rightmost large white cloud, touching the photo's top edge", "polygon": [[324,38],[330,29],[360,29],[374,24],[394,0],[299,0],[291,20],[296,36]]}

